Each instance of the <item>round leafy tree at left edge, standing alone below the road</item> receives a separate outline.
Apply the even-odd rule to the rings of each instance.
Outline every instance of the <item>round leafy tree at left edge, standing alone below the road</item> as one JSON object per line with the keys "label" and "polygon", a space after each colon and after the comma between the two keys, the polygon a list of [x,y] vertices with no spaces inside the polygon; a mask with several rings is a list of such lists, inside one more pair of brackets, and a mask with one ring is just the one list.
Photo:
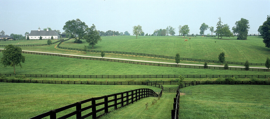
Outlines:
{"label": "round leafy tree at left edge, standing alone below the road", "polygon": [[3,50],[3,57],[1,58],[0,62],[4,64],[4,67],[11,66],[14,67],[14,74],[15,74],[15,66],[21,66],[21,62],[25,61],[25,57],[22,56],[22,49],[21,47],[14,47],[13,45],[5,46]]}

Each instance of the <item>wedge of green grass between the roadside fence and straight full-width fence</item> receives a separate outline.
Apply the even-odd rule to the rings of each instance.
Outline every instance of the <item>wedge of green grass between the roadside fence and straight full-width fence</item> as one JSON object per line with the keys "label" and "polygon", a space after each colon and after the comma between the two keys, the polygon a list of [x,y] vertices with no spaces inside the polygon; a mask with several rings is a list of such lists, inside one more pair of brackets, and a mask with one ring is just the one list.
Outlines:
{"label": "wedge of green grass between the roadside fence and straight full-width fence", "polygon": [[[156,75],[156,74],[269,74],[258,71],[194,69],[164,66],[148,66],[120,62],[76,59],[58,56],[23,54],[22,68],[15,67],[16,74],[70,74],[70,75]],[[2,57],[2,53],[0,53]],[[14,73],[13,67],[0,64],[2,74]]]}

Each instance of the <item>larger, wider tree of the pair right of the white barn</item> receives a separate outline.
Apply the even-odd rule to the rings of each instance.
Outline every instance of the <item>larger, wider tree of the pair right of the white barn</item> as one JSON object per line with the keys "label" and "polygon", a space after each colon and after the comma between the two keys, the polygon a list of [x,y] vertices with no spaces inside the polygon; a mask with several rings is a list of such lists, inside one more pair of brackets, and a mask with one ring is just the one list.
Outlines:
{"label": "larger, wider tree of the pair right of the white barn", "polygon": [[80,21],[80,19],[73,19],[65,23],[63,30],[65,30],[66,33],[69,33],[71,38],[75,38],[75,40],[78,41],[85,35],[86,28],[88,28],[88,26],[85,22]]}

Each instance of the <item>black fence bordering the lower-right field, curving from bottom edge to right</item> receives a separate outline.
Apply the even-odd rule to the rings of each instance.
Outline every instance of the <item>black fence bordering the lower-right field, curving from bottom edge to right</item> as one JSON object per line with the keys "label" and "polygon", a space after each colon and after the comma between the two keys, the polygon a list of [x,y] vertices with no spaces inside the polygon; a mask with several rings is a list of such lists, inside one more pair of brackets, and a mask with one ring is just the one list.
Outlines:
{"label": "black fence bordering the lower-right field, curving from bottom edge to right", "polygon": [[184,83],[178,86],[178,90],[176,91],[176,97],[174,98],[173,110],[171,110],[171,118],[178,119],[179,118],[179,98],[180,91],[187,86],[194,85],[204,85],[204,84],[221,84],[221,85],[270,85],[270,81],[194,81],[191,83]]}

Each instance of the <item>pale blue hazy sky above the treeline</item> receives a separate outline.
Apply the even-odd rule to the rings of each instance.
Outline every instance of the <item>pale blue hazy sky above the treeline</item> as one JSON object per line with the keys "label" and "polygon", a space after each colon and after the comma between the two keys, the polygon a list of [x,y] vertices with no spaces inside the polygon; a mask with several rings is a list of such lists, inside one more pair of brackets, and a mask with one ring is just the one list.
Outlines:
{"label": "pale blue hazy sky above the treeline", "polygon": [[[7,35],[23,34],[50,27],[63,32],[65,22],[79,18],[89,27],[95,24],[97,30],[106,32],[128,31],[141,25],[145,33],[167,26],[176,28],[188,25],[190,34],[200,32],[202,23],[214,26],[221,17],[230,29],[241,18],[249,20],[249,33],[258,33],[258,27],[270,15],[270,0],[259,1],[168,1],[168,0],[85,0],[85,1],[23,1],[1,0],[0,31]],[[211,33],[206,30],[205,34]]]}

